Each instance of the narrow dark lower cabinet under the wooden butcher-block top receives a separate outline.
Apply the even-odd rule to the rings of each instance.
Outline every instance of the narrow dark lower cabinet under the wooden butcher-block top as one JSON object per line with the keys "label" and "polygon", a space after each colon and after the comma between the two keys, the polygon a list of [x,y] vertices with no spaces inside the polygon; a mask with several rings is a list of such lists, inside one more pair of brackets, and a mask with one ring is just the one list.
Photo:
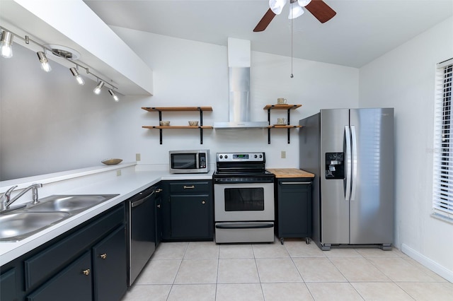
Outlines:
{"label": "narrow dark lower cabinet under the wooden butcher-block top", "polygon": [[275,234],[285,237],[311,237],[311,178],[278,178],[275,182]]}

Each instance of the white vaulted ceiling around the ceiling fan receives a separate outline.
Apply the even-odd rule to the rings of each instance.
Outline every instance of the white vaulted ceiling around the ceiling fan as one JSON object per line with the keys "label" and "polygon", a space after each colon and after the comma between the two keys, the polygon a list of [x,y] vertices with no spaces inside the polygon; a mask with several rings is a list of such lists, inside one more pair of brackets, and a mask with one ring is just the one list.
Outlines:
{"label": "white vaulted ceiling around the ceiling fan", "polygon": [[84,2],[108,25],[216,45],[236,37],[251,40],[253,51],[352,67],[453,16],[452,0],[325,0],[337,13],[326,23],[308,11],[291,23],[287,5],[265,31],[253,33],[266,0]]}

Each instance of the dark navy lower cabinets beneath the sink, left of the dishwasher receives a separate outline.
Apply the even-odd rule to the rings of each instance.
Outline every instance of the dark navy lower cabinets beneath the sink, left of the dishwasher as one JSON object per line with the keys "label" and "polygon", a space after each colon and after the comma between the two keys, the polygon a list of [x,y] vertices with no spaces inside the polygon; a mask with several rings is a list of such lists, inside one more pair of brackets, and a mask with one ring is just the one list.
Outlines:
{"label": "dark navy lower cabinets beneath the sink, left of the dishwasher", "polygon": [[122,203],[1,266],[1,300],[121,300],[126,247]]}

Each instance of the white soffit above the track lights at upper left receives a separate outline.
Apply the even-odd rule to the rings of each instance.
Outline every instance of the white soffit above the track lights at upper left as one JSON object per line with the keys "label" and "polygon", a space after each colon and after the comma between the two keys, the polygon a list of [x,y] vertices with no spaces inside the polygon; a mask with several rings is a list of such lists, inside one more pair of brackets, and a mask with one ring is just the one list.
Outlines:
{"label": "white soffit above the track lights at upper left", "polygon": [[[153,71],[82,0],[2,0],[0,25],[42,45],[75,49],[81,54],[76,62],[111,80],[123,95],[153,94]],[[31,43],[14,42],[35,51]],[[53,55],[48,58],[74,66]]]}

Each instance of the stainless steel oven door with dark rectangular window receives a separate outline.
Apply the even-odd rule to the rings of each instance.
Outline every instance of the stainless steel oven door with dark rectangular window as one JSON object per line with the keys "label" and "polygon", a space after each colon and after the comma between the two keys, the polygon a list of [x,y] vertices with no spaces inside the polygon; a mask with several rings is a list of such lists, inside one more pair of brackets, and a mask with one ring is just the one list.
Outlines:
{"label": "stainless steel oven door with dark rectangular window", "polygon": [[214,205],[216,222],[274,220],[274,184],[214,184]]}

